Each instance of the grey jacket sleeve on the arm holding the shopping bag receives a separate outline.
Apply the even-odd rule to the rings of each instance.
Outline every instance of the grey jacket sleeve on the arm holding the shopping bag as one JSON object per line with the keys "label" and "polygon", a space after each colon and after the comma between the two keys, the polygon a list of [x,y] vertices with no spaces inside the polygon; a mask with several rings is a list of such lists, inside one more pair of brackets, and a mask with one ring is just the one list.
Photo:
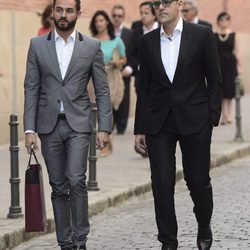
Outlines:
{"label": "grey jacket sleeve on the arm holding the shopping bag", "polygon": [[24,80],[24,131],[36,131],[36,116],[40,93],[40,71],[33,39],[30,42]]}

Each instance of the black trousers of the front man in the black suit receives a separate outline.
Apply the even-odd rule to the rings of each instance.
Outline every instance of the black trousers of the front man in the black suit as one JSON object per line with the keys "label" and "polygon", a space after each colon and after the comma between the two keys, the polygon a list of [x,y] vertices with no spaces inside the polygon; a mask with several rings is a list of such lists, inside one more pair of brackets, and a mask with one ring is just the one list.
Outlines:
{"label": "black trousers of the front man in the black suit", "polygon": [[170,111],[161,132],[146,136],[158,239],[163,244],[178,245],[174,206],[177,141],[182,151],[184,178],[194,202],[197,222],[204,227],[210,224],[213,211],[209,176],[211,135],[212,124],[208,121],[199,133],[182,136],[177,129],[174,114]]}

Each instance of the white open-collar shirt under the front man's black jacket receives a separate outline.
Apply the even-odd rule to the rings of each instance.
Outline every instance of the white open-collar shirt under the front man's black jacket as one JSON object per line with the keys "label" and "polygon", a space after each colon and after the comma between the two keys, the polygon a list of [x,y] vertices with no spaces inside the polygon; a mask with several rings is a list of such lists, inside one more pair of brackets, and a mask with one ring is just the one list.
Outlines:
{"label": "white open-collar shirt under the front man's black jacket", "polygon": [[181,34],[183,30],[183,20],[180,18],[177,23],[173,36],[167,36],[166,32],[161,26],[161,59],[167,73],[167,76],[171,82],[173,82],[174,74],[178,62],[180,44],[181,44]]}

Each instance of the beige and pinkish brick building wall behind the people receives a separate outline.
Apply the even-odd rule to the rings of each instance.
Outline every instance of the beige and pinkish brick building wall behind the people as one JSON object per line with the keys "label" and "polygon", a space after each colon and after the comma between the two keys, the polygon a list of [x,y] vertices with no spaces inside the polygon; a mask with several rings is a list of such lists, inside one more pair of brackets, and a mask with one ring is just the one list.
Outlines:
{"label": "beige and pinkish brick building wall behind the people", "polygon": [[[247,62],[250,60],[250,39],[248,24],[250,23],[250,1],[245,0],[197,0],[199,15],[213,24],[216,30],[216,16],[227,10],[232,16],[232,29],[240,36],[240,51],[246,90],[250,91],[250,72]],[[23,79],[26,68],[26,57],[31,37],[37,35],[43,8],[49,0],[0,0],[0,144],[9,143],[9,116],[17,113],[20,121],[19,135],[23,138]],[[108,12],[114,4],[122,3],[126,8],[126,25],[139,18],[139,4],[142,0],[82,0],[82,18],[77,29],[89,33],[88,26],[93,13],[97,9]],[[133,86],[131,86],[133,88]],[[133,93],[133,91],[131,91]],[[132,96],[131,114],[133,115],[135,96]]]}

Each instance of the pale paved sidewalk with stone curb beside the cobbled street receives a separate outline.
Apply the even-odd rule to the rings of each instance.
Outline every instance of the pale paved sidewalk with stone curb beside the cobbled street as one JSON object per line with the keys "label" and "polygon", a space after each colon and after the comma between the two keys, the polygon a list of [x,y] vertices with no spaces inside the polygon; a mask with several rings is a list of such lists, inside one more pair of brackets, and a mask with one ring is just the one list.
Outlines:
{"label": "pale paved sidewalk with stone curb beside the cobbled street", "polygon": [[[212,166],[218,167],[234,159],[250,154],[250,94],[242,99],[242,134],[244,142],[233,142],[235,124],[219,126],[214,129],[212,143]],[[90,215],[103,211],[133,195],[139,195],[150,189],[150,171],[148,159],[141,158],[134,152],[133,119],[130,119],[125,135],[113,136],[114,152],[107,158],[99,158],[97,162],[97,181],[100,191],[89,192]],[[24,172],[27,166],[28,155],[20,142],[19,173],[20,202],[24,213]],[[194,152],[195,154],[195,152]],[[50,187],[47,172],[40,153],[38,154],[43,165],[43,175],[46,194],[48,231],[53,231],[53,215],[50,202]],[[177,175],[182,178],[181,155],[177,150]],[[0,250],[11,249],[22,241],[33,237],[34,234],[24,233],[24,219],[6,219],[10,206],[10,154],[9,145],[0,146]]]}

